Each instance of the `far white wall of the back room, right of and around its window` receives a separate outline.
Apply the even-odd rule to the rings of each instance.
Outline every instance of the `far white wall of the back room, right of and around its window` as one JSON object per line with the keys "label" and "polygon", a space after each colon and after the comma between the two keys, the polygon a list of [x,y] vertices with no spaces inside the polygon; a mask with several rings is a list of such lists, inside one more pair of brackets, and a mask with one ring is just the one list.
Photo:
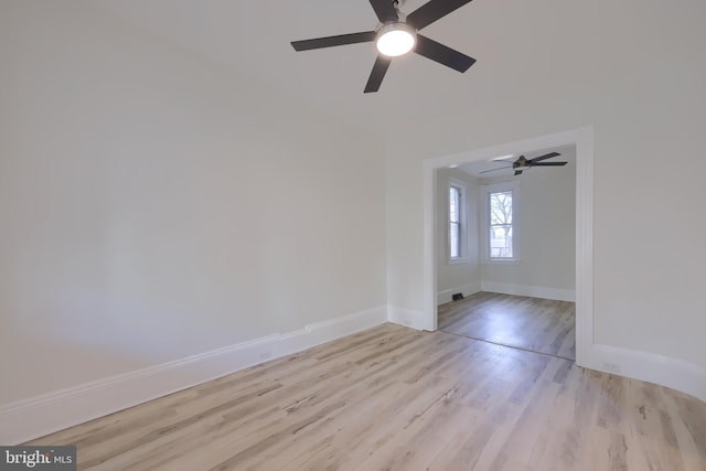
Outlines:
{"label": "far white wall of the back room, right of and around its window", "polygon": [[[575,159],[576,151],[561,150],[561,154],[554,160]],[[548,299],[575,299],[575,170],[573,164],[535,168],[512,178],[511,181],[520,184],[515,201],[517,212],[513,215],[520,263],[482,264],[483,290]],[[481,184],[502,180],[481,179]]]}

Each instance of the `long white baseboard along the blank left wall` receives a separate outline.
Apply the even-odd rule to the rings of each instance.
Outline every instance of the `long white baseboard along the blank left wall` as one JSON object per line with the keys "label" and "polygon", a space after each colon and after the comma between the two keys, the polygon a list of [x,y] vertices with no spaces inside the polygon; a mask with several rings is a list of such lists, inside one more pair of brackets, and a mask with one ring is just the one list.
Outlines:
{"label": "long white baseboard along the blank left wall", "polygon": [[268,360],[379,325],[381,306],[0,406],[0,445],[22,443],[57,430],[162,397]]}

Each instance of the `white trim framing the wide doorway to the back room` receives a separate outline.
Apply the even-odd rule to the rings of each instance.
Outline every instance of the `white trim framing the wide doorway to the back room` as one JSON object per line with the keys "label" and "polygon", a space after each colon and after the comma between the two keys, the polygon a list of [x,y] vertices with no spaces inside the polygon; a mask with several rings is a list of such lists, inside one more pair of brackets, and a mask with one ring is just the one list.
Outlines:
{"label": "white trim framing the wide doorway to the back room", "polygon": [[437,330],[435,250],[436,170],[498,156],[576,146],[576,364],[588,366],[593,345],[593,127],[505,142],[451,156],[425,159],[424,167],[424,330]]}

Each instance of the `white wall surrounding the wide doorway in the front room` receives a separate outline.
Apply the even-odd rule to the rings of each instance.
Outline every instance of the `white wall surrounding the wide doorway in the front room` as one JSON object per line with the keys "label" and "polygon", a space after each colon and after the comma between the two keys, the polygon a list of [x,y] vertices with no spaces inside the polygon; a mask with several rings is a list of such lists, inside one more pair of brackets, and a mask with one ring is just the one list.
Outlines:
{"label": "white wall surrounding the wide doorway in the front room", "polygon": [[706,371],[706,3],[475,7],[469,35],[493,54],[478,57],[443,129],[406,128],[388,143],[389,304],[424,309],[425,158],[593,125],[596,342]]}

